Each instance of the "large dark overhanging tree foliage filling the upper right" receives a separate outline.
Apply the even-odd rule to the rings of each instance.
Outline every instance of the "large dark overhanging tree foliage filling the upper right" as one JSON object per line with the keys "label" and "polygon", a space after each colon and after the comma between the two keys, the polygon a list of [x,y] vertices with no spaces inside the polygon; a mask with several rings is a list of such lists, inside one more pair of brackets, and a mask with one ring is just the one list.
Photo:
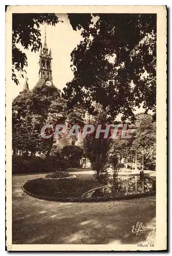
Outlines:
{"label": "large dark overhanging tree foliage filling the upper right", "polygon": [[[74,78],[63,97],[94,113],[100,103],[110,121],[121,113],[131,117],[143,103],[145,112],[156,110],[156,15],[68,14],[83,40],[73,50]],[[97,18],[96,24],[93,19]]]}

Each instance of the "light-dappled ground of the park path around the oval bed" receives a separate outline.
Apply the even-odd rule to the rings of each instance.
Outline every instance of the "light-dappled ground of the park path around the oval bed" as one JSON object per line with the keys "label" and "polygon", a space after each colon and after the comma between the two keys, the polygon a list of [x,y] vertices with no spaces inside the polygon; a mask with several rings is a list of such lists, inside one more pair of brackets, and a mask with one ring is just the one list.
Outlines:
{"label": "light-dappled ground of the park path around the oval bed", "polygon": [[[44,175],[12,177],[13,244],[138,244],[155,227],[156,197],[61,203],[26,195],[22,185]],[[147,230],[132,233],[143,222]]]}

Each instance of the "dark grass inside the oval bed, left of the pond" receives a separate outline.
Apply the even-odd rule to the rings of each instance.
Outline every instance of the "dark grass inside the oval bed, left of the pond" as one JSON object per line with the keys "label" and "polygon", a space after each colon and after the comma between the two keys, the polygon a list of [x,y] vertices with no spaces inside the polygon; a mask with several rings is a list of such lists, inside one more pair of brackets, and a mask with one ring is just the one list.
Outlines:
{"label": "dark grass inside the oval bed, left of the pond", "polygon": [[26,182],[24,188],[37,196],[58,198],[81,198],[82,194],[92,188],[102,186],[94,179],[46,180],[34,179]]}

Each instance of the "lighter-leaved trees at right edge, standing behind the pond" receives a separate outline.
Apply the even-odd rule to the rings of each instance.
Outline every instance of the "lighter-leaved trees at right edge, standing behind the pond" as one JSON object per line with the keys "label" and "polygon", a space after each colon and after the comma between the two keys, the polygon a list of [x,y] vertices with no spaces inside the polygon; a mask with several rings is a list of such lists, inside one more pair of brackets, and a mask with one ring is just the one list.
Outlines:
{"label": "lighter-leaved trees at right edge, standing behind the pond", "polygon": [[135,162],[137,146],[137,162],[144,168],[155,170],[156,167],[156,122],[143,120],[130,139],[118,138],[111,144],[110,156],[125,159],[125,163]]}

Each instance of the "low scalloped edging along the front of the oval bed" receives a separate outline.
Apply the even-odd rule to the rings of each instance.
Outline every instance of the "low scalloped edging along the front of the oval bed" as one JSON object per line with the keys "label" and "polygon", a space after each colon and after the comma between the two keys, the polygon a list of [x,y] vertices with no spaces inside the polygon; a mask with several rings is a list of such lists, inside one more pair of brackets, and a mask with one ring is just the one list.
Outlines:
{"label": "low scalloped edging along the front of the oval bed", "polygon": [[[25,184],[24,184],[25,185]],[[140,193],[140,194],[135,194],[135,195],[126,195],[126,196],[113,196],[113,197],[106,197],[106,198],[56,198],[56,197],[45,197],[45,196],[39,196],[30,193],[24,188],[24,185],[22,186],[22,189],[24,193],[26,193],[29,196],[42,199],[42,200],[47,200],[47,201],[55,201],[55,202],[71,202],[71,203],[83,203],[83,202],[106,202],[106,201],[117,201],[117,200],[128,200],[128,199],[134,199],[134,198],[141,198],[141,197],[146,197],[146,196],[154,196],[156,195],[156,191],[149,191],[145,193]]]}

